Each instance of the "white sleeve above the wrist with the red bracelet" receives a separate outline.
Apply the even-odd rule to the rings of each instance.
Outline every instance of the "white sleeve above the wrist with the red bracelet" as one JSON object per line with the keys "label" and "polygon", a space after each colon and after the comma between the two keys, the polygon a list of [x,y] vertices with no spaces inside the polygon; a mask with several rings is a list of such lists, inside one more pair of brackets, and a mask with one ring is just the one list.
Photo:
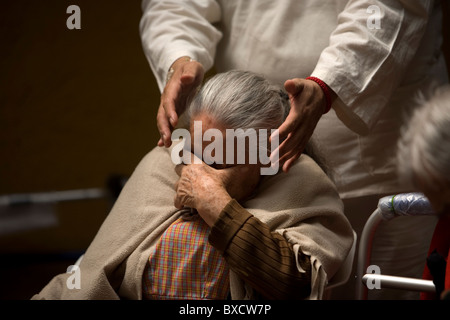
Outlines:
{"label": "white sleeve above the wrist with the red bracelet", "polygon": [[353,131],[367,134],[377,122],[411,67],[432,9],[433,0],[350,0],[339,14],[312,76],[336,92],[333,109]]}

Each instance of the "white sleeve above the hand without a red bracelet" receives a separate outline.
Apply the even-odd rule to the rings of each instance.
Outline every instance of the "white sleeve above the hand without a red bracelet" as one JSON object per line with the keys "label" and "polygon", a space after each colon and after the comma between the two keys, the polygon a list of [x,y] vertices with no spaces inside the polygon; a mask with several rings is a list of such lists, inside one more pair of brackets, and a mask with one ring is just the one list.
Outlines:
{"label": "white sleeve above the hand without a red bracelet", "polygon": [[167,71],[179,57],[189,56],[205,70],[213,66],[222,37],[213,25],[221,17],[216,1],[143,0],[142,11],[142,45],[161,92]]}

